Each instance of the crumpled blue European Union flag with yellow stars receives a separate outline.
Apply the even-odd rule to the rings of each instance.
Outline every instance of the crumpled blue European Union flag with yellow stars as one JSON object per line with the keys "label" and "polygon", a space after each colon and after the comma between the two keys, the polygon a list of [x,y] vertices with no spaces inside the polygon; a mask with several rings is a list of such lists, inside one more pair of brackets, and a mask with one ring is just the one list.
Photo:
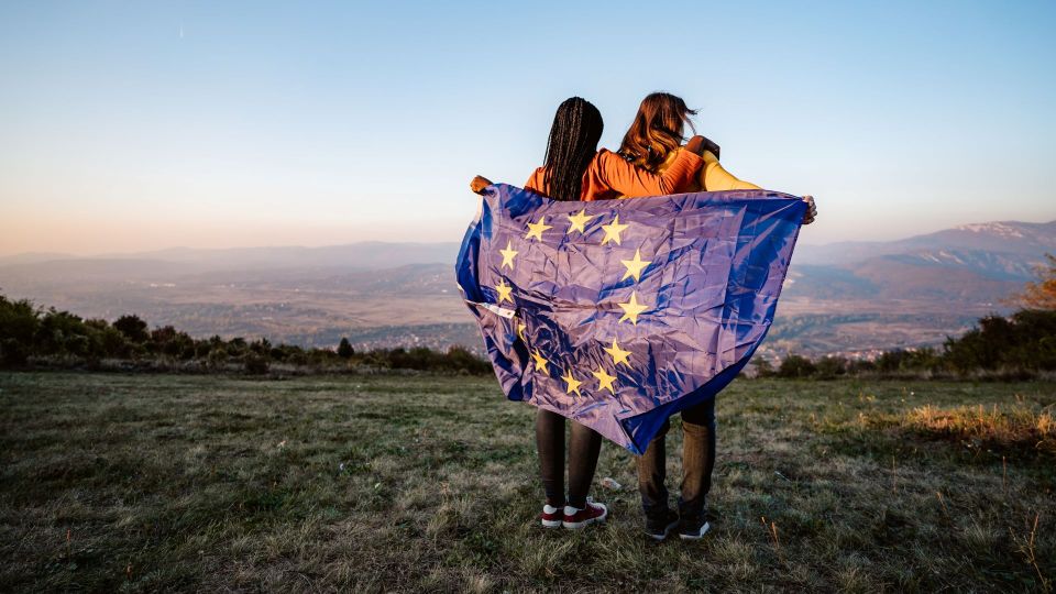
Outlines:
{"label": "crumpled blue European Union flag with yellow stars", "polygon": [[495,185],[455,273],[507,398],[640,454],[748,363],[806,208],[766,190],[563,202]]}

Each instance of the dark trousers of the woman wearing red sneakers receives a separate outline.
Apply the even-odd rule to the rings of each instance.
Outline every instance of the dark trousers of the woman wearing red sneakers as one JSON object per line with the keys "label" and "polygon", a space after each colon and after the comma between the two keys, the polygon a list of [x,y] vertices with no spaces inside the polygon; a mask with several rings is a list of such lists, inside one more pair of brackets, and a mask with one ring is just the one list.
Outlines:
{"label": "dark trousers of the woman wearing red sneakers", "polygon": [[[564,505],[564,417],[539,409],[536,414],[536,446],[539,448],[539,473],[547,503]],[[594,481],[602,436],[572,421],[569,439],[569,505],[582,509]]]}

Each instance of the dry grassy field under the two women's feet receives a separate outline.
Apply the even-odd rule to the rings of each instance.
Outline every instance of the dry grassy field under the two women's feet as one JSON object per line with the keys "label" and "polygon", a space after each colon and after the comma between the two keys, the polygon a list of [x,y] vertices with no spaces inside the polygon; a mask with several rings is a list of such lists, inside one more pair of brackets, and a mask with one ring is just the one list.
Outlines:
{"label": "dry grassy field under the two women's feet", "polygon": [[714,530],[657,544],[609,443],[612,520],[538,526],[534,409],[492,378],[0,374],[0,590],[1052,591],[1054,405],[737,381]]}

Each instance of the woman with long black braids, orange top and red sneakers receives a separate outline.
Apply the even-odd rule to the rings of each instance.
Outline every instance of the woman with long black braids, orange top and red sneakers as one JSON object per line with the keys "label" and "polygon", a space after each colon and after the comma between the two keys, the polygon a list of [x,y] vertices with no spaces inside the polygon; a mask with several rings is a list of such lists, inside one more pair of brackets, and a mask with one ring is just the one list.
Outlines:
{"label": "woman with long black braids, orange top and red sneakers", "polygon": [[[703,165],[703,136],[694,136],[684,150],[675,147],[671,164],[661,173],[652,173],[605,148],[597,150],[602,138],[602,114],[580,97],[566,99],[558,107],[550,128],[543,166],[531,174],[525,189],[554,200],[604,200],[626,197],[671,194],[695,179]],[[480,194],[491,185],[476,176],[470,183]],[[564,417],[549,410],[536,414],[536,446],[546,504],[540,515],[547,528],[583,528],[604,521],[608,509],[586,494],[602,447],[602,437],[593,429],[572,422],[569,440],[569,491],[564,491]]]}

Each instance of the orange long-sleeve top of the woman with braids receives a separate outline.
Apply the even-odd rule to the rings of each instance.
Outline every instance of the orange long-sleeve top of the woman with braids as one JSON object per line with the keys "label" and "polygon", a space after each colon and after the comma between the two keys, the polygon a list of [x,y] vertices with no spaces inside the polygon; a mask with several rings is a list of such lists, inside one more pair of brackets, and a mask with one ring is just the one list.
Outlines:
{"label": "orange long-sleeve top of the woman with braids", "polygon": [[[703,164],[704,160],[700,156],[680,150],[662,173],[653,174],[628,163],[616,153],[602,148],[591,160],[586,173],[583,174],[580,200],[608,200],[620,196],[640,198],[672,194],[678,188],[690,186]],[[537,168],[525,183],[525,189],[549,196],[548,188],[543,187],[544,174],[546,169]]]}

